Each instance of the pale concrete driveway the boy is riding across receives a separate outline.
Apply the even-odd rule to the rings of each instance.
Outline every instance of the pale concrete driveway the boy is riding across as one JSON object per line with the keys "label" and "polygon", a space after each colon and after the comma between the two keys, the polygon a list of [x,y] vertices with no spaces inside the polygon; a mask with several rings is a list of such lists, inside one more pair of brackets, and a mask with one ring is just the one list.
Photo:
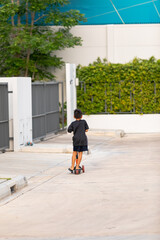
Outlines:
{"label": "pale concrete driveway the boy is riding across", "polygon": [[29,179],[0,202],[0,240],[160,240],[160,135],[89,136],[89,145],[81,175],[67,171],[71,154],[0,155],[3,176]]}

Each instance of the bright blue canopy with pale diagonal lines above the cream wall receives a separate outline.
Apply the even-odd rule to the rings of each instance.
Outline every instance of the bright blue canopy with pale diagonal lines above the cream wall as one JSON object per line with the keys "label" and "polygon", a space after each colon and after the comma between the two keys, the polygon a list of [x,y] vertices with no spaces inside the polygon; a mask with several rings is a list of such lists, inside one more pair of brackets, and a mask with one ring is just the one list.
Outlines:
{"label": "bright blue canopy with pale diagonal lines above the cream wall", "polygon": [[160,23],[160,0],[70,0],[69,9],[85,14],[83,25]]}

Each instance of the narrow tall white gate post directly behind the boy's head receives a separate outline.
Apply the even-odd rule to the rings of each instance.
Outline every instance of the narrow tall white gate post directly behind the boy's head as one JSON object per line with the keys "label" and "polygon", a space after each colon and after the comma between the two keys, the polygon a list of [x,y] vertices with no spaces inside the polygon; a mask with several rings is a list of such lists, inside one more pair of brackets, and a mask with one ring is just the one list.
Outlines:
{"label": "narrow tall white gate post directly behind the boy's head", "polygon": [[66,96],[67,96],[67,127],[74,120],[74,109],[77,108],[76,65],[66,63]]}

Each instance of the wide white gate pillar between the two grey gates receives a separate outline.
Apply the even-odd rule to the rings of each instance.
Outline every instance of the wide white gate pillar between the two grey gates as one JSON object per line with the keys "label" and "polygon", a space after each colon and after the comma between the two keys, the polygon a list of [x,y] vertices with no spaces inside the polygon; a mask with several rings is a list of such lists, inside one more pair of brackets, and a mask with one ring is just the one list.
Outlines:
{"label": "wide white gate pillar between the two grey gates", "polygon": [[8,83],[10,149],[18,151],[27,141],[32,142],[31,78],[0,78]]}

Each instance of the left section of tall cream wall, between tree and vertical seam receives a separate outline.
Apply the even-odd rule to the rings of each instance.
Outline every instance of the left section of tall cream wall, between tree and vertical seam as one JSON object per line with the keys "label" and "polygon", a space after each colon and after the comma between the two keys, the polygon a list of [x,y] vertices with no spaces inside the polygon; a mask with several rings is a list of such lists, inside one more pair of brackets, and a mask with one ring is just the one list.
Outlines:
{"label": "left section of tall cream wall, between tree and vertical seam", "polygon": [[98,56],[107,56],[106,26],[76,26],[72,28],[73,35],[81,37],[82,46],[57,51],[58,56],[63,57],[65,62],[88,65]]}

